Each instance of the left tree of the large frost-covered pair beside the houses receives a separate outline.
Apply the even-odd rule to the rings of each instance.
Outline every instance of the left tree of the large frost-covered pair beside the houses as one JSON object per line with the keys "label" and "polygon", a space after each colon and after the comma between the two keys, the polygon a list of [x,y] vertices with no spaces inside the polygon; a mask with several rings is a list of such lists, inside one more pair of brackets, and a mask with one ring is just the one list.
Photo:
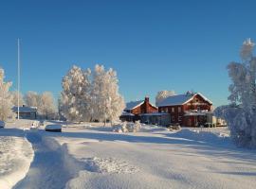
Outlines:
{"label": "left tree of the large frost-covered pair beside the houses", "polygon": [[60,109],[68,121],[89,121],[90,111],[90,70],[83,71],[73,66],[63,78],[63,92]]}

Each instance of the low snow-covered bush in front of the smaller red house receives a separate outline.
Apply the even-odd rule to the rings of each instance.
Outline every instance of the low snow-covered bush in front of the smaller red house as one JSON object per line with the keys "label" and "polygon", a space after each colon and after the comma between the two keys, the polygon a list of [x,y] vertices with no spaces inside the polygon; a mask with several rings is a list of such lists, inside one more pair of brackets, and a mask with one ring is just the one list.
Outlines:
{"label": "low snow-covered bush in front of the smaller red house", "polygon": [[140,129],[141,125],[139,121],[136,121],[136,123],[123,122],[113,127],[114,132],[138,132]]}

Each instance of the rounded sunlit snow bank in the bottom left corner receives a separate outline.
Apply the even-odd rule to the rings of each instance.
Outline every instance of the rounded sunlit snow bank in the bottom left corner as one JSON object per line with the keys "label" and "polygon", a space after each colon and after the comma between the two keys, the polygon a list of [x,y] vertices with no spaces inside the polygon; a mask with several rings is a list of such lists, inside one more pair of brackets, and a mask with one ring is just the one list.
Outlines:
{"label": "rounded sunlit snow bank in the bottom left corner", "polygon": [[25,178],[33,157],[27,139],[0,136],[0,188],[9,189]]}

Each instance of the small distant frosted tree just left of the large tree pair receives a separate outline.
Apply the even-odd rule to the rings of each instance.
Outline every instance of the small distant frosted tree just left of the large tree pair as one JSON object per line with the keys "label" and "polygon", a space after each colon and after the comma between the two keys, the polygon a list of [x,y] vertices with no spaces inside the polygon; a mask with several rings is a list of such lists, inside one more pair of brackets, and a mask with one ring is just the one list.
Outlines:
{"label": "small distant frosted tree just left of the large tree pair", "polygon": [[53,119],[56,115],[54,97],[50,92],[45,92],[39,96],[38,113],[46,118]]}

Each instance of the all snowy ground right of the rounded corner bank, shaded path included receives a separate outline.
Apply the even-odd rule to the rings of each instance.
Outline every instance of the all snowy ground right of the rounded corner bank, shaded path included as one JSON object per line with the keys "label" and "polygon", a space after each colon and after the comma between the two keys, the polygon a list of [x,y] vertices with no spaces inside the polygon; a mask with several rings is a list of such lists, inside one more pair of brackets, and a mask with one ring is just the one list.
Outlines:
{"label": "all snowy ground right of the rounded corner bank, shaded path included", "polygon": [[256,188],[256,151],[233,146],[226,128],[117,133],[87,123],[22,132],[35,155],[14,188]]}

